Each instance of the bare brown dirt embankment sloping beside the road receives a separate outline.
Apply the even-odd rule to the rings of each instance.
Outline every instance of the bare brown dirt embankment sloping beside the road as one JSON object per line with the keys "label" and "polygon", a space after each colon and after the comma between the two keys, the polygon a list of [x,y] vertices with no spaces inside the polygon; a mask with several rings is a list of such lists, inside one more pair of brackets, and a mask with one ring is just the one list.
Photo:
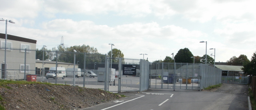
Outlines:
{"label": "bare brown dirt embankment sloping beside the road", "polygon": [[6,110],[79,110],[120,97],[100,89],[44,84],[6,85],[0,94]]}

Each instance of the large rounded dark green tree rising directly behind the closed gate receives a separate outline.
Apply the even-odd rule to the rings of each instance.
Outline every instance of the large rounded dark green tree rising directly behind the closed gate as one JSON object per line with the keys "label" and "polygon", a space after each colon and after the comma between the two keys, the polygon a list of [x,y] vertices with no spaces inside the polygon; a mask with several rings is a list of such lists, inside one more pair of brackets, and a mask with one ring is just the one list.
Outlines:
{"label": "large rounded dark green tree rising directly behind the closed gate", "polygon": [[193,63],[192,52],[188,48],[180,49],[178,53],[174,56],[175,62],[180,63]]}

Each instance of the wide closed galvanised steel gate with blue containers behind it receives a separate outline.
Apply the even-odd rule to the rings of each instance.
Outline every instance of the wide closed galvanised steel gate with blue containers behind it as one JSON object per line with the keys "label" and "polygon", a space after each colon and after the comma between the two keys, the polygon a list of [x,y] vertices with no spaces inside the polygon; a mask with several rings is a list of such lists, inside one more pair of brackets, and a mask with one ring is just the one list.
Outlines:
{"label": "wide closed galvanised steel gate with blue containers behind it", "polygon": [[152,63],[150,64],[150,88],[198,89],[199,64]]}

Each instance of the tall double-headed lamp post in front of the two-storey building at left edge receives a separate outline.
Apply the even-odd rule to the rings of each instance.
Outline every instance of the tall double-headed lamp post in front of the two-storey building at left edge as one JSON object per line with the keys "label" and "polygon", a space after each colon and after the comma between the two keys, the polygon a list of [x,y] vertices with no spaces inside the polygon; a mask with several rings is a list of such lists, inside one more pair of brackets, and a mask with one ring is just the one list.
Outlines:
{"label": "tall double-headed lamp post in front of the two-storey building at left edge", "polygon": [[[6,21],[6,25],[5,25],[5,44],[4,44],[4,79],[6,79],[6,41],[7,41],[7,19],[6,20],[4,20],[3,18],[2,19],[0,19],[0,21]],[[14,21],[12,21],[12,20],[9,20],[8,22],[10,22],[10,23],[15,23]],[[25,66],[25,68],[26,68],[26,66]],[[24,79],[25,79],[25,77],[24,77]]]}

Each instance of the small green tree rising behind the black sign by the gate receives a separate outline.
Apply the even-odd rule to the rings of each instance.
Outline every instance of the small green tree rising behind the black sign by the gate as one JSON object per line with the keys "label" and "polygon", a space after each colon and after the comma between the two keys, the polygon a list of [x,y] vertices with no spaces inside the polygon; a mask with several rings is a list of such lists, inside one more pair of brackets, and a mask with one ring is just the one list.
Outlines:
{"label": "small green tree rising behind the black sign by the gate", "polygon": [[[108,57],[110,58],[111,57],[111,50],[108,52]],[[118,58],[124,58],[124,54],[122,53],[121,50],[117,49],[117,48],[113,48],[112,49],[112,62],[118,62]],[[124,59],[123,61],[124,62]]]}

